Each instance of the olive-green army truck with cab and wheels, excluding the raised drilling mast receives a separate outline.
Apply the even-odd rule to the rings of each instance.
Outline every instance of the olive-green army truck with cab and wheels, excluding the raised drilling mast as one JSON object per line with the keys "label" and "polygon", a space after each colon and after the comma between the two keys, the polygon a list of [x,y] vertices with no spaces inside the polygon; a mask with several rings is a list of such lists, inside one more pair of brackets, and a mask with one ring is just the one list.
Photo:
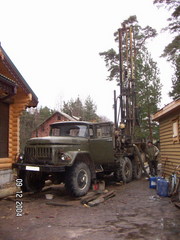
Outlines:
{"label": "olive-green army truck with cab and wheels, excluding the raised drilling mast", "polygon": [[79,197],[88,192],[99,173],[113,173],[124,182],[140,178],[136,154],[132,149],[118,153],[114,134],[111,122],[53,123],[50,136],[29,139],[24,154],[13,164],[23,180],[22,190],[40,191],[50,179],[65,183],[68,193]]}

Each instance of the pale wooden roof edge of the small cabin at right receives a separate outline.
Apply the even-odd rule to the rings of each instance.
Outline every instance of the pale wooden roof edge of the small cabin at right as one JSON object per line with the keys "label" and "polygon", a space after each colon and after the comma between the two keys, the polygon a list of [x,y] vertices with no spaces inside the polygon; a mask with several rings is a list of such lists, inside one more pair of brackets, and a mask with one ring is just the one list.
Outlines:
{"label": "pale wooden roof edge of the small cabin at right", "polygon": [[174,100],[173,102],[167,104],[165,107],[163,107],[158,112],[156,112],[153,115],[152,120],[153,121],[159,121],[161,118],[164,118],[168,114],[176,112],[176,111],[180,111],[180,98],[178,98],[178,99]]}

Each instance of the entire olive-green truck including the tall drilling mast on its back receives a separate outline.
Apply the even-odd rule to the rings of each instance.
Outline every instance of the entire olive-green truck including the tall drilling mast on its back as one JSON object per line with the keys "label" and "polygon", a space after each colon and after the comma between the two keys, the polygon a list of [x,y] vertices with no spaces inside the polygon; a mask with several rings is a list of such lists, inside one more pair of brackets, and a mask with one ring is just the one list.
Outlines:
{"label": "entire olive-green truck including the tall drilling mast on its back", "polygon": [[135,134],[140,125],[133,28],[118,29],[118,38],[120,94],[116,97],[114,91],[114,124],[58,122],[51,125],[49,137],[30,139],[13,165],[23,179],[24,191],[39,191],[51,179],[64,182],[71,195],[83,196],[99,173],[130,182],[141,177],[142,168],[145,171],[143,141],[137,141]]}

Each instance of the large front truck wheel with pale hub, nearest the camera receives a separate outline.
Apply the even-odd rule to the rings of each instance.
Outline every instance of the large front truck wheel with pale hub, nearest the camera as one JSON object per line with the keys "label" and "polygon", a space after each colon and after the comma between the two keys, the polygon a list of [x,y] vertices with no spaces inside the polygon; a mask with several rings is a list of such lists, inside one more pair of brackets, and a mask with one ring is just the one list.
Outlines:
{"label": "large front truck wheel with pale hub, nearest the camera", "polygon": [[76,162],[66,172],[65,187],[73,197],[84,196],[91,185],[91,172],[85,162]]}

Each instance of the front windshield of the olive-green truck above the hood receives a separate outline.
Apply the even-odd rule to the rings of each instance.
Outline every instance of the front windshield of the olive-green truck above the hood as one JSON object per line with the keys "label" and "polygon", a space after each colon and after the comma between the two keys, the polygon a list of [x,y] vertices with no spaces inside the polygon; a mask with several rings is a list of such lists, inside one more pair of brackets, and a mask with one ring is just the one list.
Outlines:
{"label": "front windshield of the olive-green truck above the hood", "polygon": [[51,126],[51,136],[88,137],[86,125],[61,124]]}

